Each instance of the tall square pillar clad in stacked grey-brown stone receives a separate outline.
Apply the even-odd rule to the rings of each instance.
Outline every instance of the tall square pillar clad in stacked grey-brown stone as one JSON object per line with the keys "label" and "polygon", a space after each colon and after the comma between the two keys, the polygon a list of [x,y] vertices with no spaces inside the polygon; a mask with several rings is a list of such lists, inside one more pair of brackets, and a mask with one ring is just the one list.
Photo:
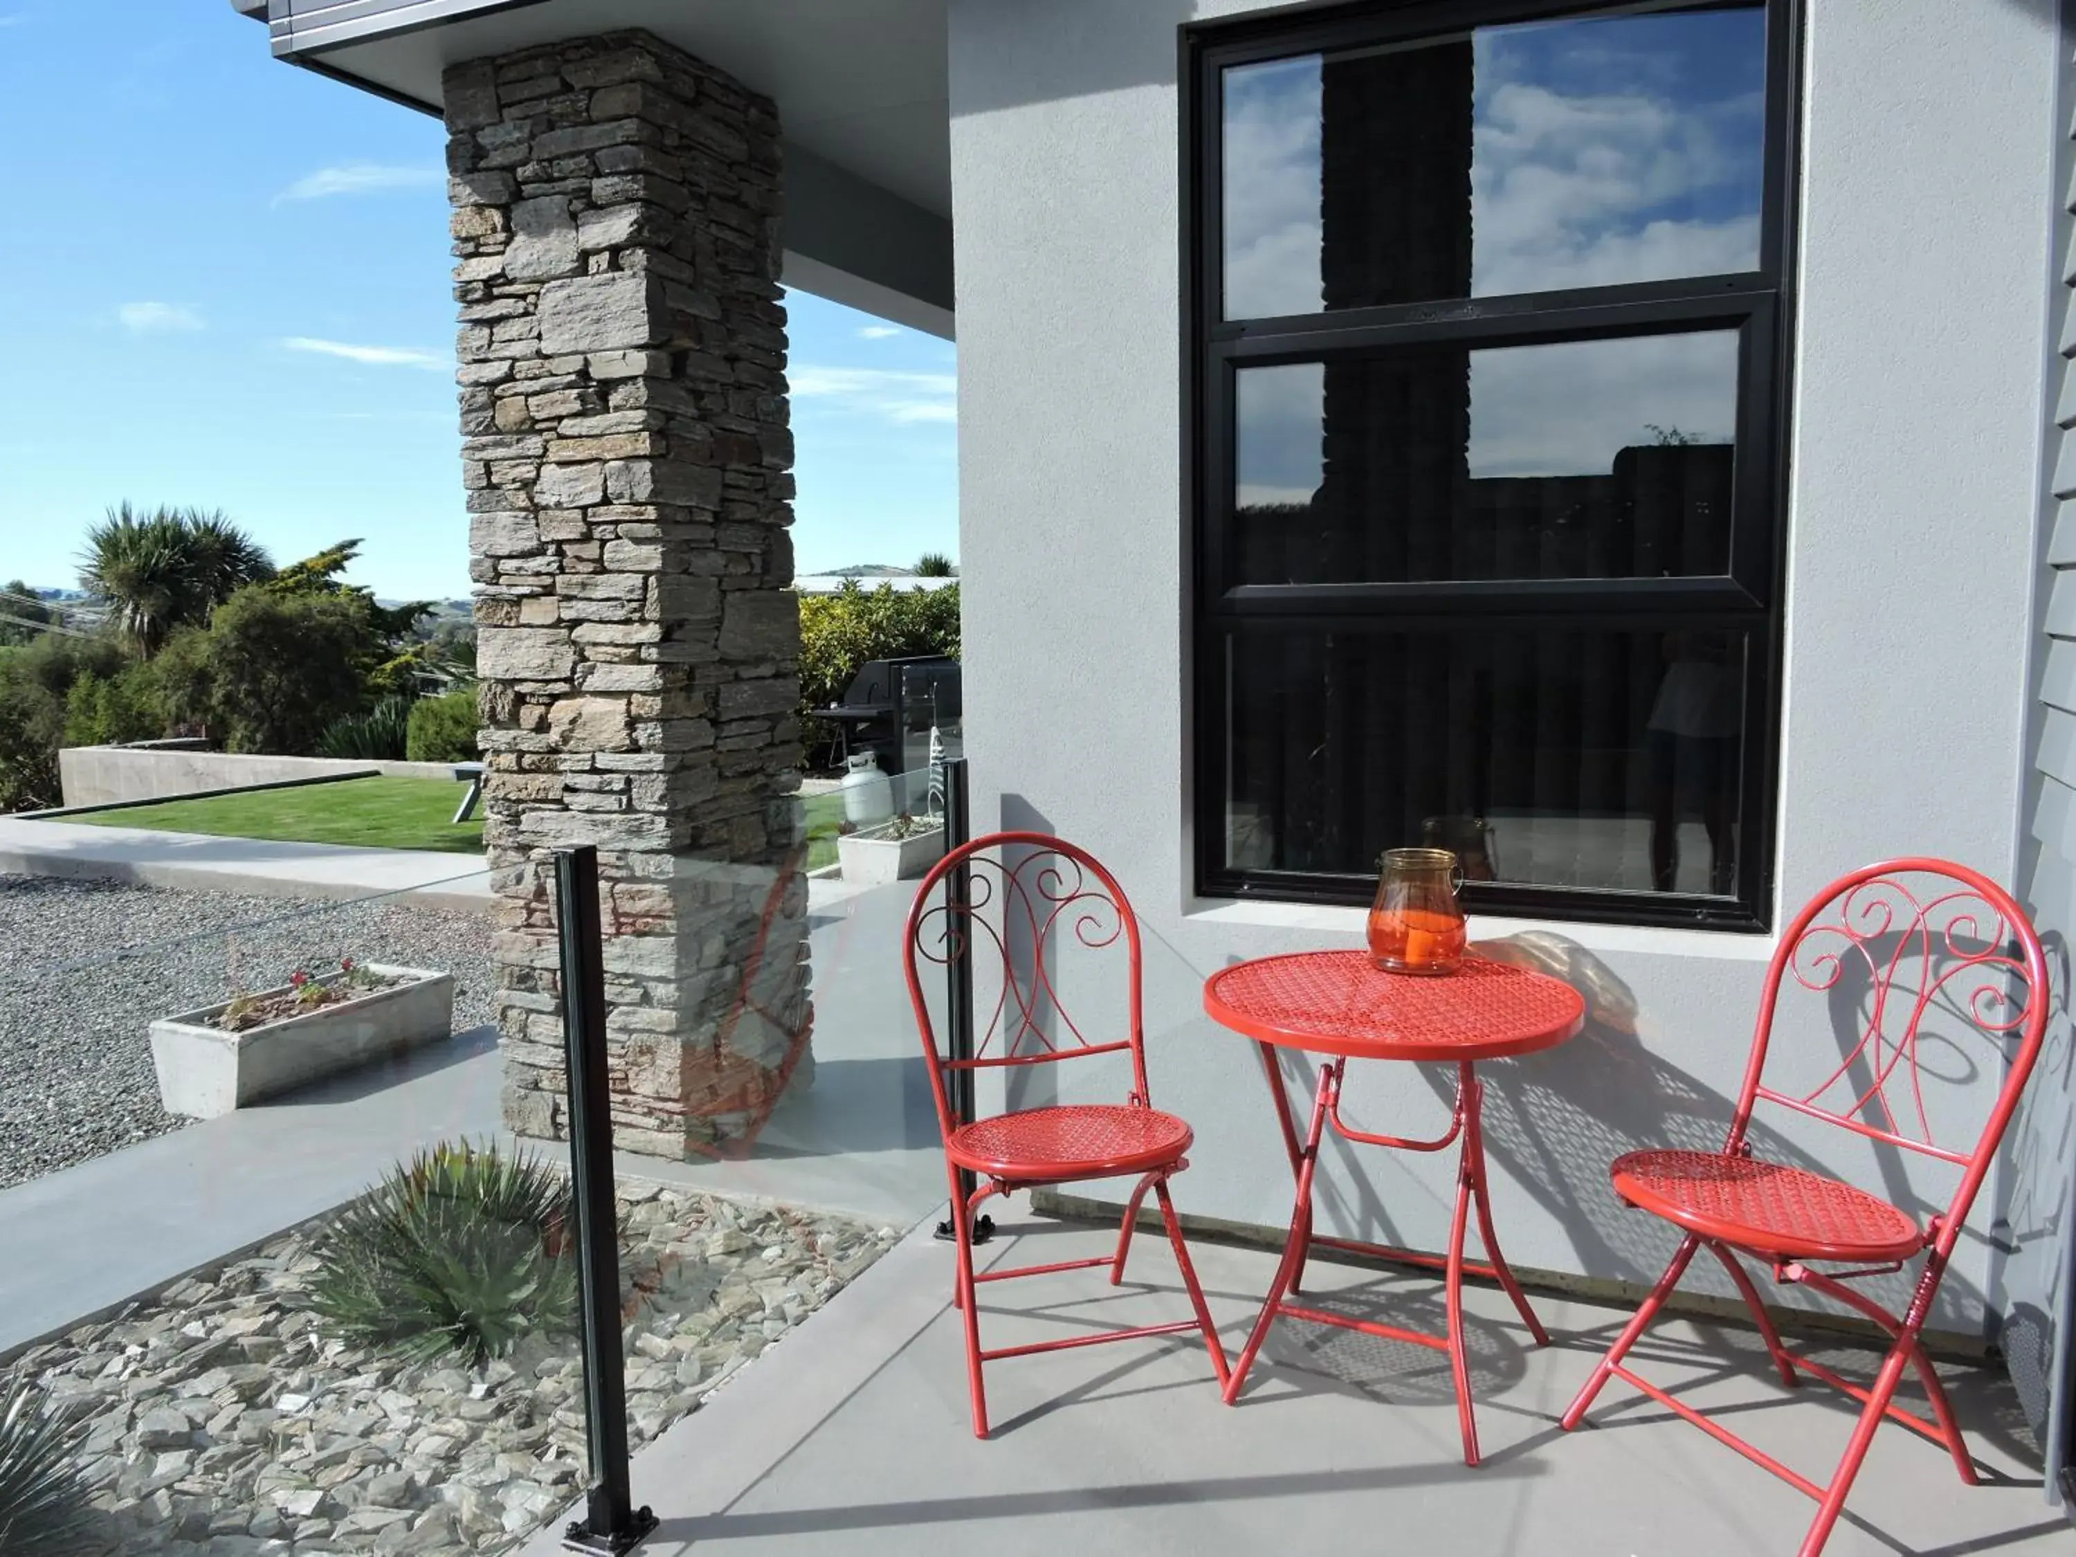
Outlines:
{"label": "tall square pillar clad in stacked grey-brown stone", "polygon": [[778,116],[646,33],[444,85],[504,1119],[596,843],[617,1140],[727,1150],[810,1065]]}

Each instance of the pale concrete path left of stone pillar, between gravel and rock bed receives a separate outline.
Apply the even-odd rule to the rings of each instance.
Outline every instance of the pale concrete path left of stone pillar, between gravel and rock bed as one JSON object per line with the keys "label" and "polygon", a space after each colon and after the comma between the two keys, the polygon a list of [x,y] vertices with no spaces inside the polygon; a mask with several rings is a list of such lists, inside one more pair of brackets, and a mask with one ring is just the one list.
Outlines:
{"label": "pale concrete path left of stone pillar, between gravel and rock bed", "polygon": [[0,1192],[0,1356],[498,1129],[496,1034],[372,1065]]}

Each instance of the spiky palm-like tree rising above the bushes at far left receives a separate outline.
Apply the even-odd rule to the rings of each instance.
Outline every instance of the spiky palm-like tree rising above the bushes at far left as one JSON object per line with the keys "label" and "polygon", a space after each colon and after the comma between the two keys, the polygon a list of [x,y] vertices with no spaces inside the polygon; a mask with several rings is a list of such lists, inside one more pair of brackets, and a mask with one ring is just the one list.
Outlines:
{"label": "spiky palm-like tree rising above the bushes at far left", "polygon": [[87,531],[79,581],[145,658],[176,627],[203,623],[235,590],[274,575],[266,550],[220,511],[110,509]]}

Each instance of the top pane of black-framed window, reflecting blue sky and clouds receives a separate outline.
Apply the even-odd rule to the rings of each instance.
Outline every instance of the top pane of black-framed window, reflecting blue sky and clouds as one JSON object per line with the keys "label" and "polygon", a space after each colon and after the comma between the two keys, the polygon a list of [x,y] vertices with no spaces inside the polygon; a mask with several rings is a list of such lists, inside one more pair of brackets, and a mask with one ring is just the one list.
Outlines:
{"label": "top pane of black-framed window, reflecting blue sky and clouds", "polygon": [[1225,318],[1758,268],[1758,4],[1225,71]]}

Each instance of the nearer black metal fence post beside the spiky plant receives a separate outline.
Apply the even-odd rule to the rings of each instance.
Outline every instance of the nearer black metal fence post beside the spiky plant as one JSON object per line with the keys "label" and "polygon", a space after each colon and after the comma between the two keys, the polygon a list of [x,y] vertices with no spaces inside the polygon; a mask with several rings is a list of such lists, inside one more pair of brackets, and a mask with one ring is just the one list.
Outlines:
{"label": "nearer black metal fence post beside the spiky plant", "polygon": [[627,1354],[621,1347],[621,1248],[612,1198],[598,849],[556,849],[554,895],[563,930],[569,1179],[577,1206],[577,1318],[583,1331],[583,1403],[592,1447],[585,1518],[563,1532],[563,1545],[569,1551],[619,1557],[656,1528],[656,1515],[633,1507],[627,1468]]}

